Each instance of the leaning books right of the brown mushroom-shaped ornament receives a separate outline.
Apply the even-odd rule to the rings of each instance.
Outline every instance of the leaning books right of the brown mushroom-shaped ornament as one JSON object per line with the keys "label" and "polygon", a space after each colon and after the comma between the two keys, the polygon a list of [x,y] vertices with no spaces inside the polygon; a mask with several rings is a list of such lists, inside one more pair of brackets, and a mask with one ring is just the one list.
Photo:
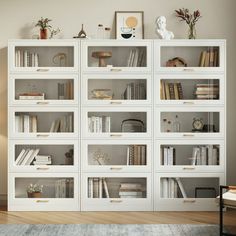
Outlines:
{"label": "leaning books right of the brown mushroom-shaped ornament", "polygon": [[127,61],[128,67],[143,67],[146,64],[145,49],[135,48],[131,49]]}

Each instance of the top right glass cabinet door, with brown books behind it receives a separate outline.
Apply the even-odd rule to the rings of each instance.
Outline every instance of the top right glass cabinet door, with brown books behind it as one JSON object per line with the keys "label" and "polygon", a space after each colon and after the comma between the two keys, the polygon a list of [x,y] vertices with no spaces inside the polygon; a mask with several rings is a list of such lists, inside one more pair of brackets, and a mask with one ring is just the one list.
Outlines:
{"label": "top right glass cabinet door, with brown books behind it", "polygon": [[155,43],[157,71],[216,72],[224,70],[224,42],[175,40]]}

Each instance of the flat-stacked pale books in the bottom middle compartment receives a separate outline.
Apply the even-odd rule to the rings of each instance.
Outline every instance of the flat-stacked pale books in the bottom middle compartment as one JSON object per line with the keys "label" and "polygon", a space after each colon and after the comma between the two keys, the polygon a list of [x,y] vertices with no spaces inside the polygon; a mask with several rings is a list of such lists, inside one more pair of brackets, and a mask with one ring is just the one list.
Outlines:
{"label": "flat-stacked pale books in the bottom middle compartment", "polygon": [[119,189],[120,198],[142,198],[143,186],[141,183],[121,183]]}

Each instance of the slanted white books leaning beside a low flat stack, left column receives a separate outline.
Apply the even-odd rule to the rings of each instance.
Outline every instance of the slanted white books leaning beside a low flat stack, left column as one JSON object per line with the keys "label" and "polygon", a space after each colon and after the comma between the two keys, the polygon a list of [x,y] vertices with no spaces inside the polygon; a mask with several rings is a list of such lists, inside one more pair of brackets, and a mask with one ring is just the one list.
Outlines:
{"label": "slanted white books leaning beside a low flat stack, left column", "polygon": [[35,157],[38,155],[39,149],[22,149],[15,160],[16,165],[31,165]]}

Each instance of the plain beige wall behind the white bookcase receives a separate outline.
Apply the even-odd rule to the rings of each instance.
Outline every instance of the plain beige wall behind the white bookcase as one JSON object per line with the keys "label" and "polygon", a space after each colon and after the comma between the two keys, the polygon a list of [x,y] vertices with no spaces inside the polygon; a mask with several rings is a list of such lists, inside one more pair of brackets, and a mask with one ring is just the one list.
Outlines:
{"label": "plain beige wall behind the white bookcase", "polygon": [[88,35],[94,35],[98,23],[114,29],[116,10],[144,11],[145,38],[156,38],[154,22],[159,15],[167,17],[176,38],[185,38],[186,25],[174,16],[174,9],[181,7],[201,10],[199,38],[227,39],[227,176],[229,184],[236,184],[235,0],[0,0],[0,199],[7,192],[7,40],[29,38],[41,16],[53,19],[65,38],[77,35],[82,23]]}

